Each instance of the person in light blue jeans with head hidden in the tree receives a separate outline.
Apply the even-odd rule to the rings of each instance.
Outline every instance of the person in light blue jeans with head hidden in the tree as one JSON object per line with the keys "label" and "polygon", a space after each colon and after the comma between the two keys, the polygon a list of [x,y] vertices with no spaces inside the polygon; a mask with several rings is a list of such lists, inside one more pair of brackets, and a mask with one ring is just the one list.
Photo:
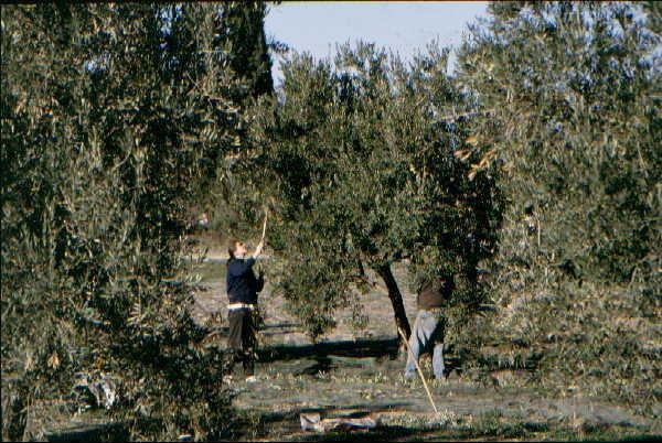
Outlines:
{"label": "person in light blue jeans with head hidden in the tree", "polygon": [[418,279],[417,304],[418,314],[414,322],[414,331],[409,337],[409,349],[405,377],[413,377],[416,372],[416,363],[420,354],[433,348],[433,371],[435,378],[441,380],[446,376],[444,365],[444,333],[446,317],[444,307],[447,306],[450,294],[455,289],[455,280],[450,274],[435,278],[421,277]]}

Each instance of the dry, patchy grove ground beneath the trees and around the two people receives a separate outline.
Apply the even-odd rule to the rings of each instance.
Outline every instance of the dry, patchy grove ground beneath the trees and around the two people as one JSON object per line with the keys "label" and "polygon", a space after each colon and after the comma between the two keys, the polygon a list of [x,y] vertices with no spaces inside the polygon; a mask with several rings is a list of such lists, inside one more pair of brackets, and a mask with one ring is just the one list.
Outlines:
{"label": "dry, patchy grove ground beneath the trees and around the two people", "polygon": [[[217,331],[215,341],[223,346],[227,299],[222,253],[207,255],[199,272],[204,290],[195,296],[194,316]],[[402,284],[405,270],[394,272],[413,323],[415,295]],[[402,376],[404,355],[397,349],[387,295],[375,290],[362,301],[369,316],[364,329],[353,329],[351,311],[341,311],[338,327],[312,344],[284,298],[267,283],[260,294],[266,322],[258,334],[258,381],[246,382],[237,367],[229,382],[235,407],[249,418],[244,440],[652,441],[662,433],[660,423],[627,406],[576,390],[560,396],[544,392],[527,382],[532,374],[526,370],[488,378],[455,370],[445,381],[428,378],[435,413],[421,380]],[[421,364],[430,377],[429,359]],[[369,431],[305,432],[299,422],[302,412],[319,412],[322,418],[370,415],[380,425]]]}

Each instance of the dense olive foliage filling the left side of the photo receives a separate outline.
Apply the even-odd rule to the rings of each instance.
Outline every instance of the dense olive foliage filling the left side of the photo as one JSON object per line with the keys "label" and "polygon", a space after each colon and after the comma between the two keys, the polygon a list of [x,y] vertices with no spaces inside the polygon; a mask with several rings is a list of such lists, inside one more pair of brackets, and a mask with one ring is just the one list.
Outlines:
{"label": "dense olive foliage filling the left side of the photo", "polygon": [[135,437],[232,426],[178,223],[238,138],[221,12],[3,7],[3,437],[38,437],[9,411],[71,396],[75,372],[118,380]]}

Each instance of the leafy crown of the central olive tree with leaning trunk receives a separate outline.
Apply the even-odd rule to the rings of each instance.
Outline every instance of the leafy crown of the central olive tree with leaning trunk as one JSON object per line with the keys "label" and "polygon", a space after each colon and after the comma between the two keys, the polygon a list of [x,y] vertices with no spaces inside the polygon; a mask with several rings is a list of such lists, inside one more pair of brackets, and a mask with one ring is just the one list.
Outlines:
{"label": "leafy crown of the central olive tree with leaning trunk", "polygon": [[287,253],[280,289],[313,336],[366,288],[367,268],[389,281],[391,264],[410,259],[476,282],[492,252],[498,196],[453,155],[463,98],[447,58],[433,46],[406,66],[364,43],[340,47],[333,62],[295,55],[282,65],[281,99],[254,110],[254,171],[278,216],[269,245]]}

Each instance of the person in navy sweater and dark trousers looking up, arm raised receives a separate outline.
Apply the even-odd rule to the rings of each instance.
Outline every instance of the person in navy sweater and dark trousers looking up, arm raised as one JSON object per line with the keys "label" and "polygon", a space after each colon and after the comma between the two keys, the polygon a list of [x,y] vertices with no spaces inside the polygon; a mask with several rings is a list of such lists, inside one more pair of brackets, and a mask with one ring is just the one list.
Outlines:
{"label": "person in navy sweater and dark trousers looking up, arm raised", "polygon": [[260,241],[252,257],[246,258],[246,246],[243,241],[231,239],[227,246],[229,259],[225,278],[229,304],[227,316],[229,336],[227,338],[226,371],[232,372],[236,361],[242,361],[246,380],[253,381],[255,361],[255,322],[253,314],[257,309],[257,293],[261,291],[264,279],[255,277],[253,264],[264,247]]}

